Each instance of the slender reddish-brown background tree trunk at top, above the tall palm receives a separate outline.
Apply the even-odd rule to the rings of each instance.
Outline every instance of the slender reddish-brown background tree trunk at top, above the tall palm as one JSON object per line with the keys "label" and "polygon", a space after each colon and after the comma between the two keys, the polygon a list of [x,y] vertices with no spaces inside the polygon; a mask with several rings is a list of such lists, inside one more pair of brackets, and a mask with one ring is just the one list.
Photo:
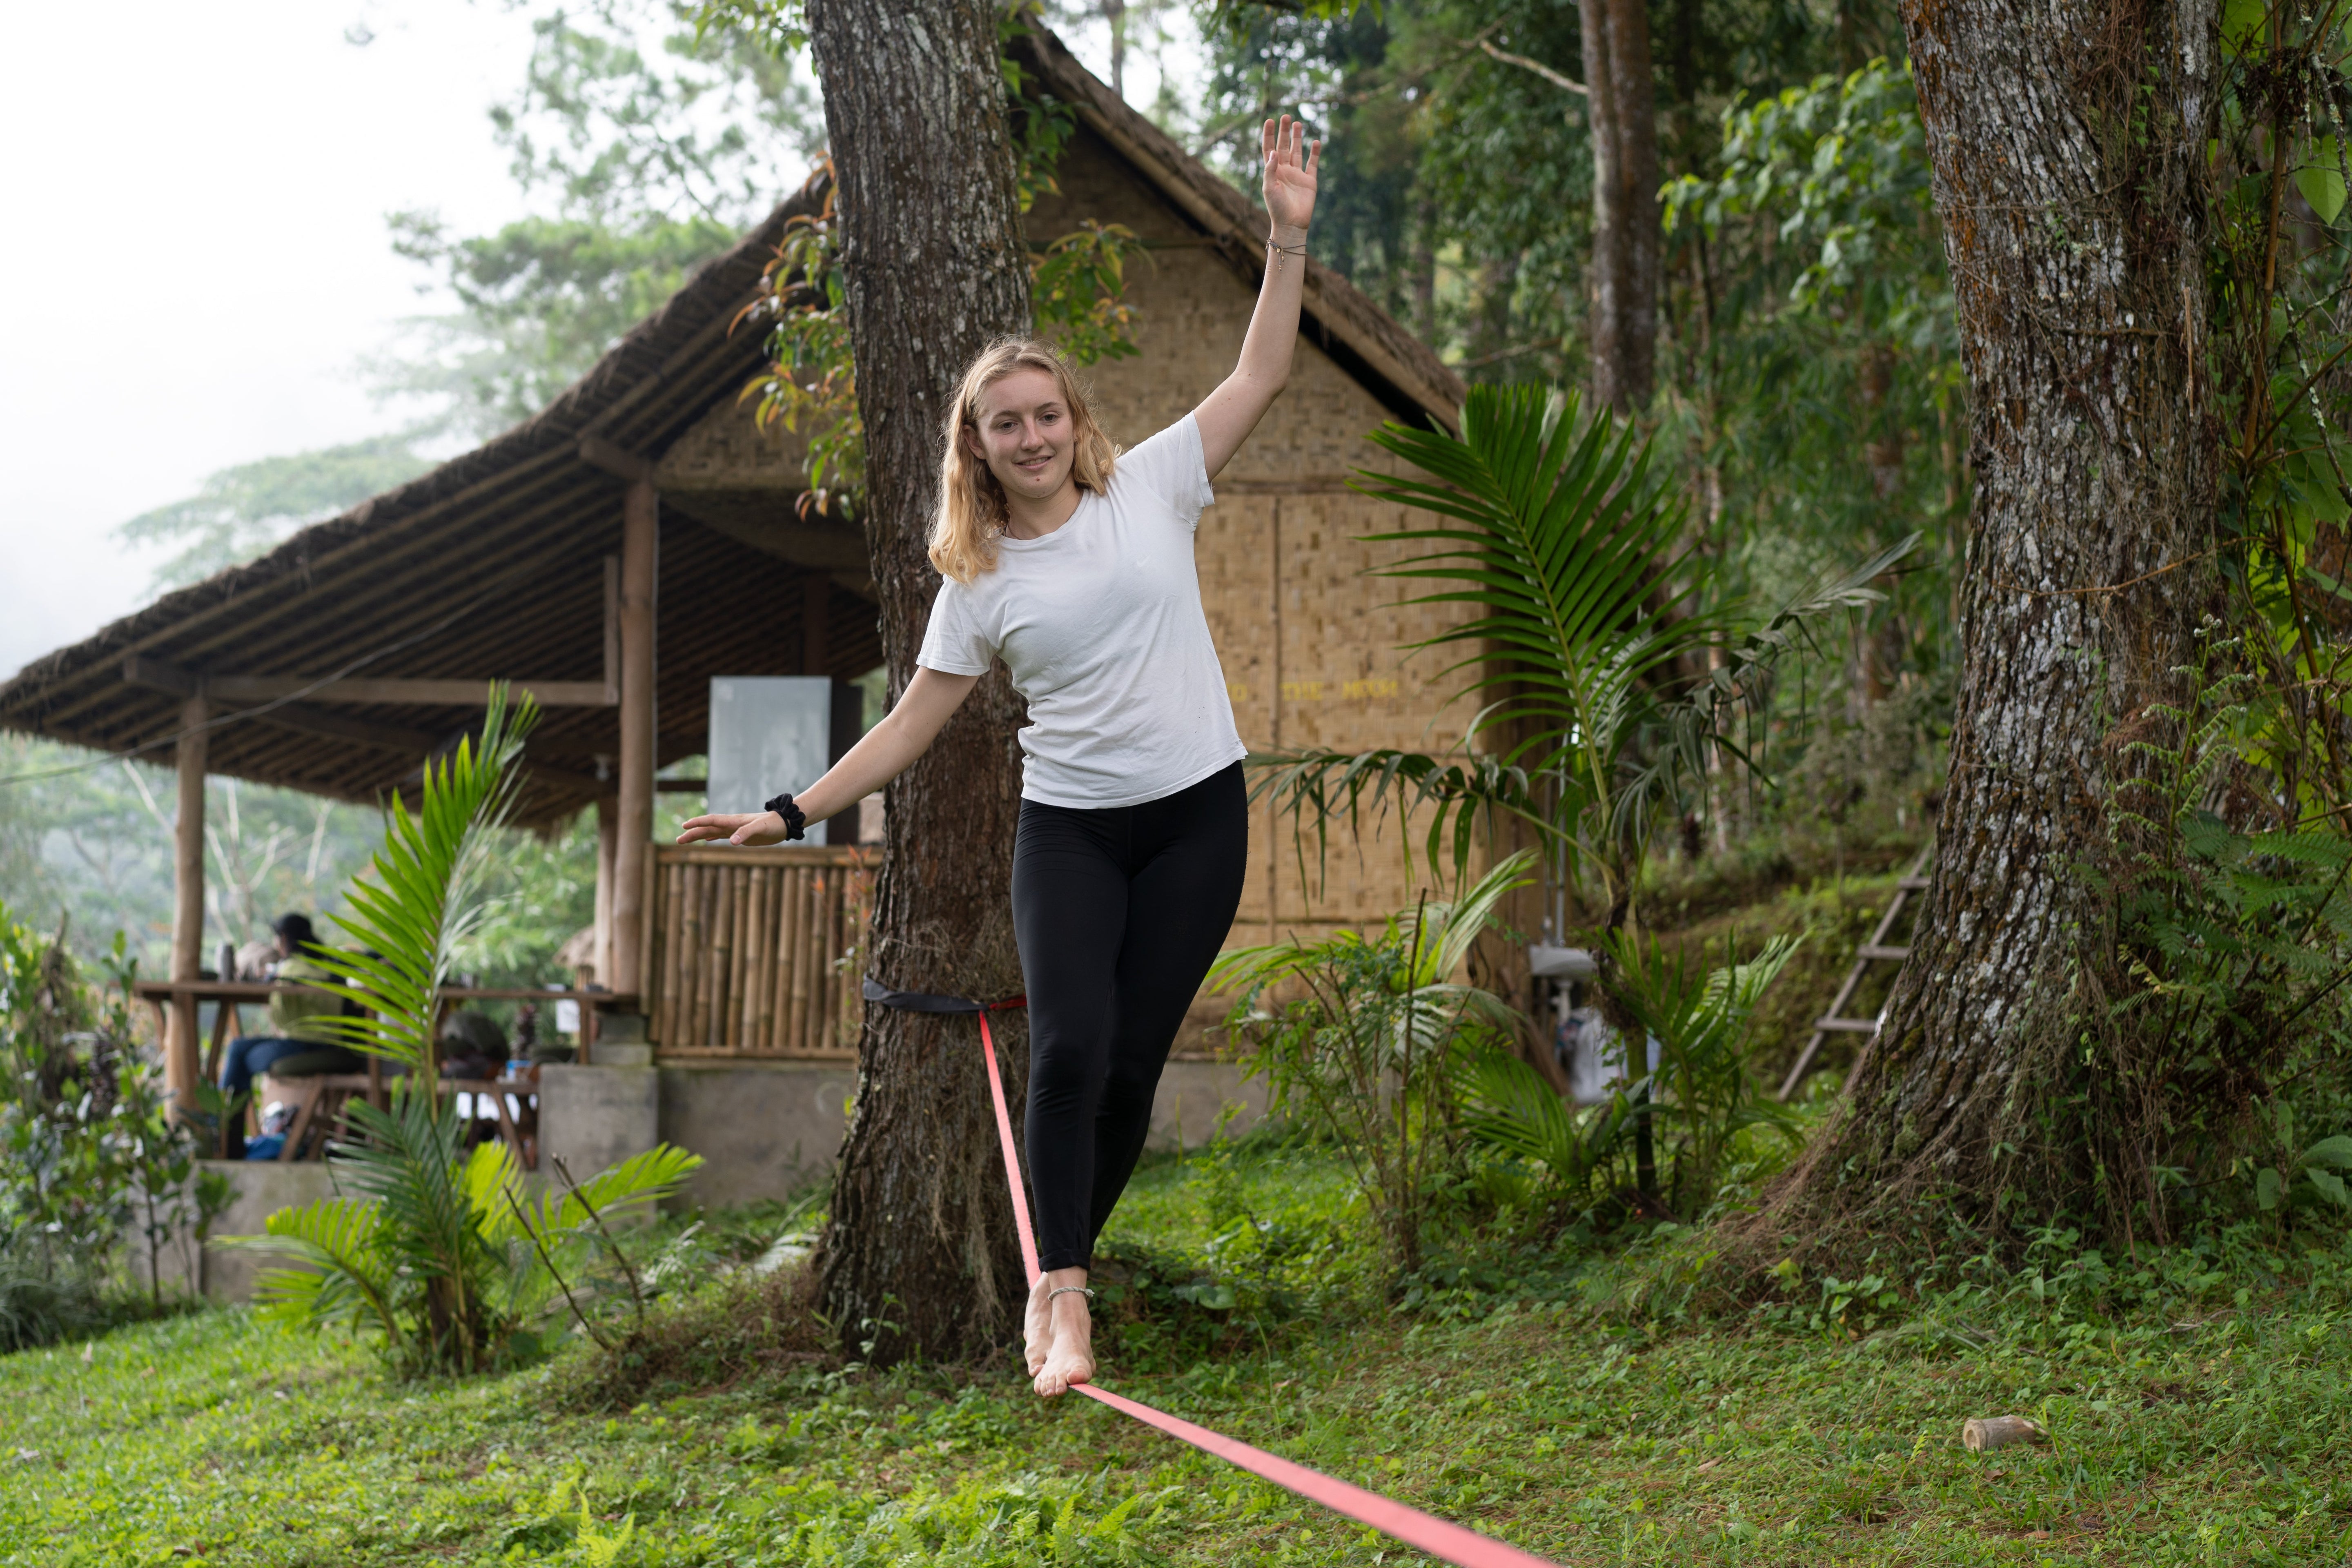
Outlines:
{"label": "slender reddish-brown background tree trunk at top, above the tall palm", "polygon": [[1644,0],[1585,0],[1592,122],[1592,395],[1649,407],[1658,362],[1658,118]]}

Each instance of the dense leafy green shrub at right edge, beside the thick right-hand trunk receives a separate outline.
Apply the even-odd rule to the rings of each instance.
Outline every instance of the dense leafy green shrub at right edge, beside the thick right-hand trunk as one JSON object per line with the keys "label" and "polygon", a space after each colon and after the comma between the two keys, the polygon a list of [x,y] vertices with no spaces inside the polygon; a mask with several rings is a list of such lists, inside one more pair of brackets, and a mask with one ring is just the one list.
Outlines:
{"label": "dense leafy green shrub at right edge, beside the thick right-hand trunk", "polygon": [[2131,1215],[2171,1234],[2176,1194],[2220,1220],[2284,1220],[2281,1201],[2345,1215],[2333,1171],[2352,1143],[2310,1133],[2352,1131],[2352,839],[2317,797],[2333,743],[2303,736],[2251,665],[2206,621],[2176,670],[2185,701],[2117,731],[2136,776],[2084,865],[2114,929],[2063,1044],[2091,1180],[2126,1234]]}

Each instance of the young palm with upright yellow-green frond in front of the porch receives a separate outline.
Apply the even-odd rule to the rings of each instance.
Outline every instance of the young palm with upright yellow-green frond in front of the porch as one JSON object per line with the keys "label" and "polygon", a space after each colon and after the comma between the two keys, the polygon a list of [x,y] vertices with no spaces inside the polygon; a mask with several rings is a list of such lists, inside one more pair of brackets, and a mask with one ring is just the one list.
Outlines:
{"label": "young palm with upright yellow-green frond in front of the porch", "polygon": [[390,1107],[350,1107],[332,1161],[343,1194],[280,1208],[233,1246],[282,1260],[261,1274],[263,1316],[381,1338],[397,1366],[480,1371],[536,1342],[572,1281],[612,1248],[607,1220],[677,1190],[701,1159],[656,1145],[562,1197],[532,1197],[503,1143],[466,1150],[468,1124],[437,1093],[433,1030],[459,943],[482,919],[482,875],[520,785],[529,696],[508,708],[494,684],[482,733],[426,764],[416,813],[393,802],[383,846],[336,919],[365,952],[320,964],[353,987],[365,1018],[341,1039],[402,1067]]}

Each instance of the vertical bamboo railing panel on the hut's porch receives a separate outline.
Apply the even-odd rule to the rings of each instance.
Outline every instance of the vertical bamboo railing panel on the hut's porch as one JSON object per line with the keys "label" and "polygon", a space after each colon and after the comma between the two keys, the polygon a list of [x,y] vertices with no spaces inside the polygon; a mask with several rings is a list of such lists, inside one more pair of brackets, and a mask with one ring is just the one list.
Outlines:
{"label": "vertical bamboo railing panel on the hut's porch", "polygon": [[663,1058],[851,1058],[877,849],[659,844],[649,1032]]}

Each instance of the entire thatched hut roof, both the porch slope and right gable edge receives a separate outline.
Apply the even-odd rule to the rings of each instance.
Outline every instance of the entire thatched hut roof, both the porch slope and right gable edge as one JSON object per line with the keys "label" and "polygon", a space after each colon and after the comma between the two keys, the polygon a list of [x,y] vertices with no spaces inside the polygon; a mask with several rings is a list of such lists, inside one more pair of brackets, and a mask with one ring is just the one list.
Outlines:
{"label": "entire thatched hut roof, both the porch slope and right gable edge", "polygon": [[[1051,33],[1014,49],[1148,186],[1256,284],[1265,214],[1122,103]],[[621,545],[614,465],[659,463],[762,364],[762,334],[729,327],[811,181],[741,244],[701,268],[534,418],[299,531],[256,562],[165,595],[0,686],[0,729],[172,762],[195,675],[602,682],[604,557]],[[1348,280],[1310,263],[1305,334],[1399,416],[1454,421],[1461,381]],[[682,454],[691,449],[680,447]],[[774,463],[769,461],[769,470]],[[800,520],[790,482],[673,489],[663,480],[659,745],[668,764],[706,745],[713,675],[795,675],[802,607],[821,604],[828,670],[880,663],[863,541]],[[811,592],[811,583],[816,585]],[[219,684],[214,686],[219,691]],[[339,799],[379,799],[480,719],[470,703],[259,698],[209,733],[207,766]],[[612,790],[616,708],[550,708],[529,748],[529,820]]]}

